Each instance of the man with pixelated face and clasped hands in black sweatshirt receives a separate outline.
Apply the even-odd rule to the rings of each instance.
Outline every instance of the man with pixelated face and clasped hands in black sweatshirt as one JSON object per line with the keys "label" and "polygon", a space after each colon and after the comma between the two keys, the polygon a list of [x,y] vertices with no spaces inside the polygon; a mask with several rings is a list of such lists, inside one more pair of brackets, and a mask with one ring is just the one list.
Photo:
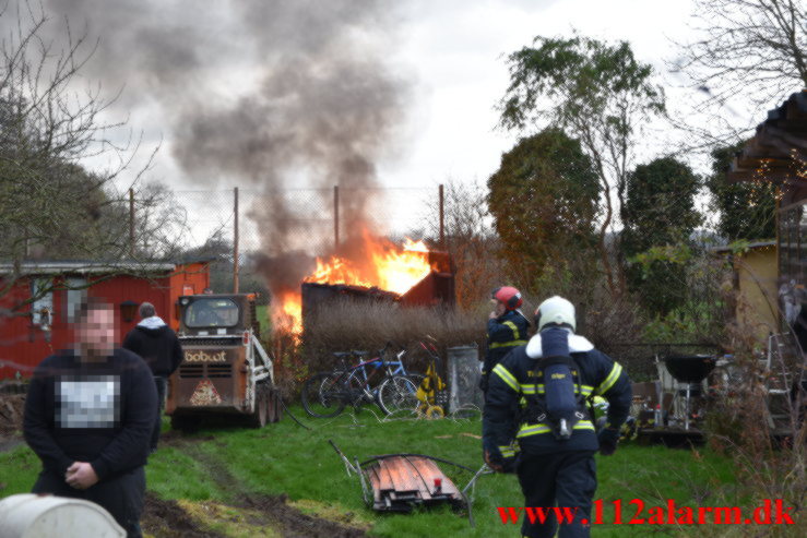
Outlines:
{"label": "man with pixelated face and clasped hands in black sweatshirt", "polygon": [[43,462],[32,491],[95,502],[140,537],[157,403],[152,375],[140,357],[115,348],[110,304],[84,301],[75,333],[75,349],[43,360],[28,387],[23,433]]}

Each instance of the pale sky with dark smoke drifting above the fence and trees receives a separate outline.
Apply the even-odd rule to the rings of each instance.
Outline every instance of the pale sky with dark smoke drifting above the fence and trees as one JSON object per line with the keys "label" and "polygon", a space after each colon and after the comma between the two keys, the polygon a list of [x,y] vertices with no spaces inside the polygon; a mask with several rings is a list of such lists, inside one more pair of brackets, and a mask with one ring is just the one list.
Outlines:
{"label": "pale sky with dark smoke drifting above the fence and trees", "polygon": [[[22,2],[22,3],[21,3]],[[185,193],[200,243],[232,218],[234,187],[260,192],[318,189],[300,203],[271,194],[252,212],[256,242],[286,252],[331,232],[289,230],[301,213],[328,230],[332,187],[381,187],[387,196],[341,198],[341,216],[380,217],[394,234],[423,227],[412,207],[438,183],[484,183],[518,133],[497,129],[496,104],[509,75],[507,55],[536,36],[574,33],[627,40],[665,87],[668,107],[702,97],[669,70],[693,41],[695,0],[43,0],[46,39],[85,35],[95,51],[73,89],[118,95],[99,117],[140,148],[116,184],[141,182]],[[7,35],[14,5],[0,16]],[[758,112],[732,104],[748,124]],[[668,125],[651,125],[637,164],[669,152]],[[523,133],[522,133],[523,134]],[[114,155],[84,159],[114,167]],[[705,172],[702,155],[685,155]],[[383,190],[387,188],[388,190]],[[395,191],[393,192],[394,189]],[[404,195],[399,190],[412,189]],[[435,189],[434,191],[431,189]],[[204,196],[211,190],[222,196]],[[199,191],[193,198],[187,191]],[[312,191],[313,192],[313,191]],[[393,193],[393,194],[390,194]],[[424,194],[426,193],[426,194]],[[286,194],[289,196],[290,194]],[[224,201],[224,202],[222,202]],[[182,202],[177,202],[182,203]],[[207,205],[205,205],[205,203]],[[372,204],[380,204],[371,207]],[[207,218],[210,216],[210,218]],[[249,224],[248,224],[249,225]],[[347,226],[348,229],[358,227]],[[392,232],[388,229],[383,232]],[[198,237],[197,237],[198,236]],[[259,246],[260,243],[260,246]]]}

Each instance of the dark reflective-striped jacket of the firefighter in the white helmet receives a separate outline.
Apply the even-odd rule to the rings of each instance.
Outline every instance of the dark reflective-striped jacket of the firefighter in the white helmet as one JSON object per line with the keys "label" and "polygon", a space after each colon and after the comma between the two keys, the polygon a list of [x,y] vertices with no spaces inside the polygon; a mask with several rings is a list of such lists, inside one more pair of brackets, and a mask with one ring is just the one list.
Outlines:
{"label": "dark reflective-striped jacket of the firefighter in the white helmet", "polygon": [[[569,335],[569,351],[580,369],[575,393],[582,391],[585,397],[605,397],[609,403],[607,423],[619,428],[630,411],[631,384],[627,372],[582,336]],[[558,440],[548,425],[536,422],[526,413],[530,398],[543,394],[543,384],[536,375],[537,359],[542,357],[538,334],[526,346],[512,349],[490,373],[483,417],[483,445],[494,462],[502,462],[502,457],[513,454],[512,432],[525,454],[596,451],[600,447],[590,416],[574,425],[570,439]],[[517,402],[521,410],[518,416],[513,413]]]}

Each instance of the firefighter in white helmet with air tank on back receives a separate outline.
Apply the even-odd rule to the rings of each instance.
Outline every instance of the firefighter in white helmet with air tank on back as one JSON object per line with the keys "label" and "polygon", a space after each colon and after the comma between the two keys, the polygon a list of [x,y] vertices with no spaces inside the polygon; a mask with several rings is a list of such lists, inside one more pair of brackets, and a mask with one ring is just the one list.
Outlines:
{"label": "firefighter in white helmet with air tank on back", "polygon": [[[512,431],[520,454],[515,473],[530,507],[570,509],[560,525],[560,538],[590,536],[591,506],[596,489],[594,454],[614,454],[619,428],[630,410],[631,384],[622,367],[574,334],[574,307],[561,297],[544,301],[535,312],[538,333],[529,344],[512,349],[490,375],[483,418],[485,462],[503,471]],[[545,359],[545,360],[539,360]],[[568,367],[573,383],[569,390],[578,406],[571,422],[550,419],[550,395],[562,374],[548,373],[550,366]],[[558,380],[556,380],[556,378]],[[597,432],[585,398],[601,395],[608,400],[605,427]],[[553,396],[557,397],[557,396]],[[521,402],[519,413],[512,407]],[[561,427],[566,426],[566,430]],[[583,523],[585,522],[585,523]],[[525,518],[522,535],[553,537],[558,527],[555,512],[544,522]]]}

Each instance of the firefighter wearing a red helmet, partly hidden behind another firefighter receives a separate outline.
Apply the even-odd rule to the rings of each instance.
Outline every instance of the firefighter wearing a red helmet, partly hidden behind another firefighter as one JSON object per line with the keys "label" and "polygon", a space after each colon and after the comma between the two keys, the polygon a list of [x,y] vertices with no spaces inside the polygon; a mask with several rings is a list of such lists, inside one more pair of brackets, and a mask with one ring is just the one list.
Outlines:
{"label": "firefighter wearing a red helmet, partly hidden behind another firefighter", "polygon": [[487,322],[487,352],[479,381],[479,388],[483,392],[487,392],[494,367],[513,347],[526,344],[526,331],[530,327],[530,321],[519,310],[524,301],[518,289],[511,286],[496,288],[490,301],[495,304],[495,309],[490,312]]}

